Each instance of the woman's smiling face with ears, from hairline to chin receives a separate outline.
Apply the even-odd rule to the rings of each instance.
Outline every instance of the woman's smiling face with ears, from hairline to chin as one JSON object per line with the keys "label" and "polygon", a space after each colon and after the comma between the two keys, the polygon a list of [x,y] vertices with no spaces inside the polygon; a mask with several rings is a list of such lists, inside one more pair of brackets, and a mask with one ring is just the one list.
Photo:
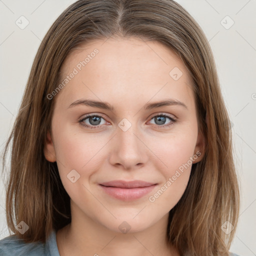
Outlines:
{"label": "woman's smiling face with ears, from hairline to chin", "polygon": [[110,38],[72,52],[61,74],[44,154],[72,214],[117,232],[166,217],[203,155],[183,62],[156,41]]}

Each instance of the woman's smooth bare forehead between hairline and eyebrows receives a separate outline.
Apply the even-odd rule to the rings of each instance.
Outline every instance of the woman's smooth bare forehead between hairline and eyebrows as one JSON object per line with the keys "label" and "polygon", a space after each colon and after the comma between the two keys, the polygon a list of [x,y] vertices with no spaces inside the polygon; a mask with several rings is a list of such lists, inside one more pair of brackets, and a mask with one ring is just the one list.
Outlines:
{"label": "woman's smooth bare forehead between hairline and eyebrows", "polygon": [[149,100],[172,96],[171,92],[174,98],[188,100],[192,92],[188,71],[174,51],[160,42],[134,37],[80,45],[65,59],[61,81],[72,72],[75,75],[63,91],[73,100],[87,95],[109,100],[114,95],[139,100],[143,95]]}

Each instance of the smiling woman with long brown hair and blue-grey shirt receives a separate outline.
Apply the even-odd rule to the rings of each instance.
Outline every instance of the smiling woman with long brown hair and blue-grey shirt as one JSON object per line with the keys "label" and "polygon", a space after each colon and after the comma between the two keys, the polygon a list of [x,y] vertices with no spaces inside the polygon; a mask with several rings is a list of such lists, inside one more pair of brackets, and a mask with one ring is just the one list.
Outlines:
{"label": "smiling woman with long brown hair and blue-grey shirt", "polygon": [[172,0],[78,0],[12,133],[3,255],[231,255],[239,193],[211,50]]}

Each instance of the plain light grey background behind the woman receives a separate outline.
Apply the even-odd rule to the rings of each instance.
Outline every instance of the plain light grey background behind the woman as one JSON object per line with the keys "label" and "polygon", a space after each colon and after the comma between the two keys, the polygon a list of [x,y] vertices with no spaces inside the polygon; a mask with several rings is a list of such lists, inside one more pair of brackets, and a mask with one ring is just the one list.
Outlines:
{"label": "plain light grey background behind the woman", "polygon": [[[74,0],[0,0],[0,151],[14,122],[39,43]],[[241,191],[238,229],[230,251],[256,255],[256,0],[177,0],[202,27],[212,48],[233,124],[234,157]],[[15,21],[25,16],[20,29]],[[234,24],[226,27],[232,22]],[[224,19],[223,19],[224,18]],[[222,24],[226,23],[226,24]],[[1,163],[1,162],[0,162]],[[0,180],[0,239],[9,235]]]}

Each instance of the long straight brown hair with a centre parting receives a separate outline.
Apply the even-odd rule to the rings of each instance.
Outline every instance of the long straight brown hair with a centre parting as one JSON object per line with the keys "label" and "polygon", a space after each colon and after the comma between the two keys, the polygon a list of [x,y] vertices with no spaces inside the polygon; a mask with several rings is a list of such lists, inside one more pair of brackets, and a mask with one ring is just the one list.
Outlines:
{"label": "long straight brown hair with a centre parting", "polygon": [[[207,39],[192,16],[173,0],[78,0],[67,7],[44,36],[3,154],[11,143],[6,184],[8,229],[25,242],[45,242],[52,228],[71,220],[70,198],[56,162],[45,159],[60,68],[80,45],[110,36],[157,41],[173,50],[193,81],[198,127],[206,141],[201,161],[192,164],[186,189],[169,211],[166,241],[180,255],[228,256],[239,211],[230,121]],[[20,234],[16,223],[29,229]],[[234,229],[225,234],[221,225]]]}

